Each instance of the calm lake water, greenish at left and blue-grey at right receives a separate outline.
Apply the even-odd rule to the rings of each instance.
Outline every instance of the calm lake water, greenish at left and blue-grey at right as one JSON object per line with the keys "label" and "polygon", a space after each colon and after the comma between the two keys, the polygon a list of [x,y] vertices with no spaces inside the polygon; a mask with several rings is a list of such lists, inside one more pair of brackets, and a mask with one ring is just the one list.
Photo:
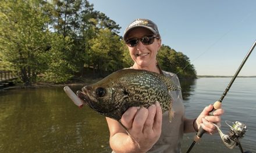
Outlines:
{"label": "calm lake water, greenish at left and blue-grey at right", "polygon": [[[231,78],[200,78],[182,81],[187,118],[219,100]],[[70,86],[80,90],[81,86]],[[237,78],[223,99],[222,130],[225,121],[247,125],[241,139],[244,151],[256,152],[256,78]],[[195,133],[184,134],[186,152]],[[0,93],[0,152],[111,152],[104,116],[88,107],[78,108],[63,88],[13,89]],[[230,150],[219,137],[204,134],[191,152],[240,152]]]}

